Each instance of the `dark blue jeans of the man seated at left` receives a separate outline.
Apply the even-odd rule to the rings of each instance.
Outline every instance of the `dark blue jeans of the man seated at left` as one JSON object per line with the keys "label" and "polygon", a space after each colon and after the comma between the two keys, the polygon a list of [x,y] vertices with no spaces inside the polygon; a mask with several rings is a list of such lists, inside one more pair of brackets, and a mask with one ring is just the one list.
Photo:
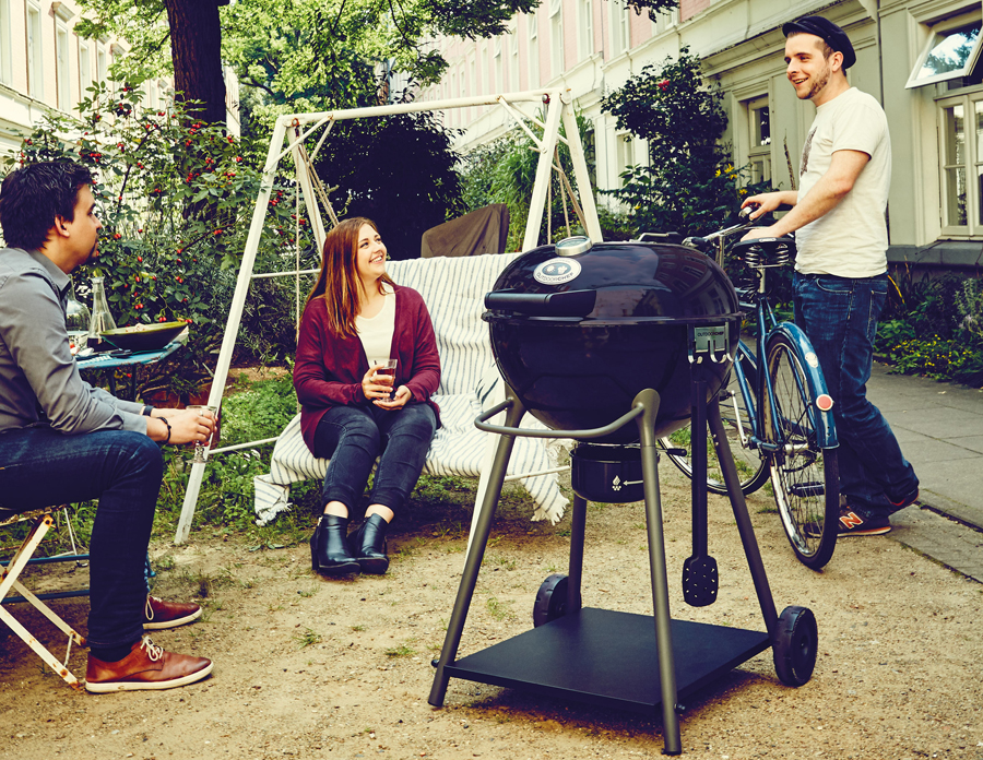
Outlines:
{"label": "dark blue jeans of the man seated at left", "polygon": [[99,500],[88,545],[91,646],[128,646],[143,636],[146,546],[163,476],[161,449],[141,432],[66,436],[42,426],[0,432],[4,507]]}

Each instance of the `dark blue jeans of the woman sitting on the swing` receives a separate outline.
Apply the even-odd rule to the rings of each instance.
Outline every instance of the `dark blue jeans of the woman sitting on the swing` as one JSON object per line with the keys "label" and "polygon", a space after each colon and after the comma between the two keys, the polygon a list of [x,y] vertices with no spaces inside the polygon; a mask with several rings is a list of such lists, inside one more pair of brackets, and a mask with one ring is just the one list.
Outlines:
{"label": "dark blue jeans of the woman sitting on the swing", "polygon": [[423,472],[436,429],[429,404],[394,411],[374,404],[332,406],[315,432],[315,454],[331,460],[321,503],[341,501],[351,516],[381,454],[369,503],[399,512]]}

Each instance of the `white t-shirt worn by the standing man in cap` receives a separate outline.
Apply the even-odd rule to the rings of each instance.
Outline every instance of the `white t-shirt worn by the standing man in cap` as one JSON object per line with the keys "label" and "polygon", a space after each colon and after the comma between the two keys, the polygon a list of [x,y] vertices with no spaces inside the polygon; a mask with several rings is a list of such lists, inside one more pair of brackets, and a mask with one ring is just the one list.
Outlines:
{"label": "white t-shirt worn by the standing man in cap", "polygon": [[853,189],[829,213],[795,233],[795,269],[803,274],[873,277],[887,271],[887,210],[891,138],[880,104],[856,87],[816,109],[802,149],[798,201],[829,170],[836,151],[871,159]]}

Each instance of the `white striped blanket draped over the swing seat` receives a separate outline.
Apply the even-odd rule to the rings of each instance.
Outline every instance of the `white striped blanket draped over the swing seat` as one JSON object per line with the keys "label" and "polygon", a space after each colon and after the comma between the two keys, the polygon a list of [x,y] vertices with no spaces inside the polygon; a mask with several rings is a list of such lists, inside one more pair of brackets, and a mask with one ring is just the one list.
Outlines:
{"label": "white striped blanket draped over the swing seat", "polygon": [[[494,289],[501,270],[517,256],[413,259],[387,265],[396,283],[424,297],[437,334],[441,377],[434,401],[440,406],[442,427],[427,453],[424,472],[430,475],[481,475],[487,437],[474,427],[474,418],[504,397],[488,326],[481,314],[485,294]],[[542,428],[529,415],[522,425]],[[548,441],[516,439],[509,475],[555,466],[555,448]],[[297,415],[276,441],[270,474],[256,478],[257,522],[265,524],[289,509],[291,483],[323,478],[327,468],[328,460],[316,459],[304,443]],[[555,523],[562,516],[567,499],[555,473],[525,478],[523,485],[536,503],[533,520]]]}

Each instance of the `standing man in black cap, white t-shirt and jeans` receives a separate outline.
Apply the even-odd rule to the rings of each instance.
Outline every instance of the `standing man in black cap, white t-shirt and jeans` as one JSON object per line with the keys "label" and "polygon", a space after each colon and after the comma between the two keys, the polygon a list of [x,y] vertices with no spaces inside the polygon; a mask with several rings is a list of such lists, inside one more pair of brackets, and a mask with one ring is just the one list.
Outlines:
{"label": "standing man in black cap, white t-shirt and jeans", "polygon": [[914,503],[919,479],[890,426],[866,397],[877,318],[888,290],[887,209],[891,142],[884,109],[851,87],[856,55],[846,33],[821,16],[782,27],[786,74],[816,105],[802,149],[798,192],[748,198],[757,218],[791,205],[745,239],[795,233],[795,321],[805,330],[836,401],[840,440],[840,535],[891,530],[891,512]]}

